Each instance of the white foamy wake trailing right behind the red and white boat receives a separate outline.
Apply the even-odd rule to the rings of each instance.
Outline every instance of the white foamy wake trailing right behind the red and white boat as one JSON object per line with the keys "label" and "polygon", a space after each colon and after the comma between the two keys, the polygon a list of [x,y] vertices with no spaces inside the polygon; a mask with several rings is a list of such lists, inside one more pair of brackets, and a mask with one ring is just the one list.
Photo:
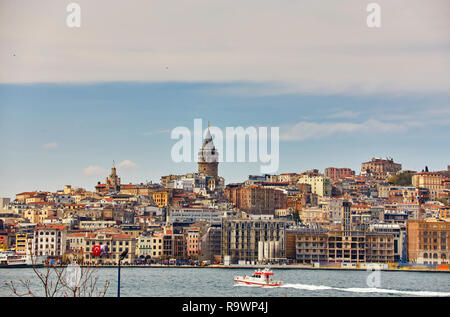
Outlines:
{"label": "white foamy wake trailing right behind the red and white boat", "polygon": [[393,294],[393,295],[409,295],[409,296],[424,296],[424,297],[450,297],[450,292],[433,292],[433,291],[402,291],[395,289],[383,289],[383,288],[339,288],[325,285],[307,285],[307,284],[285,284],[281,287],[294,288],[307,291],[323,291],[323,290],[335,290],[341,292],[350,293],[381,293],[381,294]]}

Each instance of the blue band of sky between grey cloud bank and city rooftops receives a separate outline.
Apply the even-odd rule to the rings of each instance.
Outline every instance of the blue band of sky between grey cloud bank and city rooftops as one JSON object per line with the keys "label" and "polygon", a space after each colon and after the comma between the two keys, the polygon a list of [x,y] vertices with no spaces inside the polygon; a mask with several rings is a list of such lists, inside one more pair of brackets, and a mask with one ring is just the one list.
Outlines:
{"label": "blue band of sky between grey cloud bank and city rooftops", "polygon": [[[203,119],[204,128],[208,121],[222,129],[280,127],[279,172],[329,166],[359,171],[361,162],[373,156],[391,156],[413,170],[449,164],[448,95],[251,96],[221,89],[232,86],[246,84],[0,85],[0,193],[9,197],[65,184],[92,190],[113,160],[135,164],[119,168],[124,183],[195,171],[195,163],[172,162],[176,141],[169,131],[177,126],[192,130],[196,118]],[[316,135],[301,138],[302,131],[293,128],[299,122],[318,125],[311,128]],[[347,125],[356,130],[346,130]],[[283,139],[296,133],[300,138]],[[222,163],[220,174],[227,183],[243,181],[258,174],[259,165]],[[86,175],[89,166],[105,174]]]}

